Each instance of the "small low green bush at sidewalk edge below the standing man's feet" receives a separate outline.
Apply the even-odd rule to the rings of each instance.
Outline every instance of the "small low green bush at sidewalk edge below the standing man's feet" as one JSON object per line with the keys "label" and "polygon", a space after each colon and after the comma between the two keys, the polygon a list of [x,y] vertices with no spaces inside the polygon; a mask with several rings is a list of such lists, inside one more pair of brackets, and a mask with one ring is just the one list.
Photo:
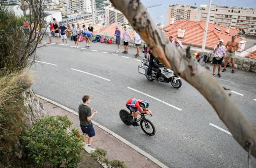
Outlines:
{"label": "small low green bush at sidewalk edge below the standing man's feet", "polygon": [[90,153],[90,156],[100,162],[100,164],[106,166],[107,168],[127,168],[124,161],[111,160],[106,158],[107,151],[105,149],[96,148],[95,151]]}

